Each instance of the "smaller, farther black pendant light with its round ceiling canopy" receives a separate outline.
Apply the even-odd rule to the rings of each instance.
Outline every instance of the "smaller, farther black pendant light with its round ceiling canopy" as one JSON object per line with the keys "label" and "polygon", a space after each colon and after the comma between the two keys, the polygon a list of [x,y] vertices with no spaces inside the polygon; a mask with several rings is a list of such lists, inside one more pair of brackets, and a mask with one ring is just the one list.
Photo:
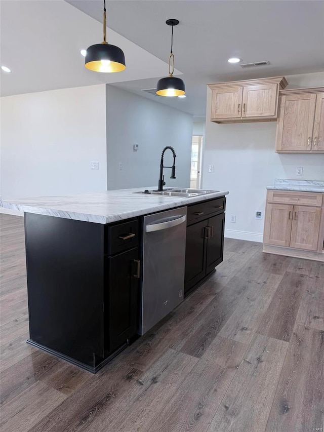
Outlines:
{"label": "smaller, farther black pendant light with its round ceiling canopy", "polygon": [[178,25],[179,21],[177,19],[169,19],[166,21],[166,24],[172,26],[171,32],[171,53],[169,56],[169,76],[166,78],[161,78],[157,82],[156,86],[156,94],[158,96],[181,96],[186,93],[184,88],[184,82],[180,80],[180,78],[176,78],[173,76],[174,72],[174,55],[172,52],[173,48],[173,26]]}

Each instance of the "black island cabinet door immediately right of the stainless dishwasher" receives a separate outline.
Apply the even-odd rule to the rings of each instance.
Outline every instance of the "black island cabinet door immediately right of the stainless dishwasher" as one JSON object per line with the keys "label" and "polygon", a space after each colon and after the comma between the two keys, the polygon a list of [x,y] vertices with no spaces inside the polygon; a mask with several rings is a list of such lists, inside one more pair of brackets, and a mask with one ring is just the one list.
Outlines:
{"label": "black island cabinet door immediately right of the stainless dishwasher", "polygon": [[187,227],[184,292],[189,291],[206,273],[207,220]]}

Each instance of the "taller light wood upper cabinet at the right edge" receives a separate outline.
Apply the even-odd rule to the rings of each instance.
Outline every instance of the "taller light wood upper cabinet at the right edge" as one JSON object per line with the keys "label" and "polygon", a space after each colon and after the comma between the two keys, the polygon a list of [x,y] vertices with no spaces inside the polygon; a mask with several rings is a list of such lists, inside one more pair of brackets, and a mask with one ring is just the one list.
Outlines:
{"label": "taller light wood upper cabinet at the right edge", "polygon": [[323,97],[321,87],[280,92],[276,152],[324,152]]}

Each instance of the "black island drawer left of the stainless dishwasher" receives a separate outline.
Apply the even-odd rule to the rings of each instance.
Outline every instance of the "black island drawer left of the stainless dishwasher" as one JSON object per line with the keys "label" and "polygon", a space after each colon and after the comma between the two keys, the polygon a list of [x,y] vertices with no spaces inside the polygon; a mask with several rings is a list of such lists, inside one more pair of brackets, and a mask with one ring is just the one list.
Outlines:
{"label": "black island drawer left of the stainless dishwasher", "polygon": [[107,227],[106,251],[114,255],[138,245],[138,220],[132,220]]}

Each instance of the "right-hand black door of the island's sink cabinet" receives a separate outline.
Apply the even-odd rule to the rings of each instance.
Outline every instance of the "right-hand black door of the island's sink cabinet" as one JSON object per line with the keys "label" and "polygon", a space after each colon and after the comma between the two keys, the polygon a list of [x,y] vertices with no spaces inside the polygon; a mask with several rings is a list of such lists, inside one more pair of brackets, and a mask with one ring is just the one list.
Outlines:
{"label": "right-hand black door of the island's sink cabinet", "polygon": [[225,214],[208,219],[209,238],[207,241],[206,274],[223,261]]}

